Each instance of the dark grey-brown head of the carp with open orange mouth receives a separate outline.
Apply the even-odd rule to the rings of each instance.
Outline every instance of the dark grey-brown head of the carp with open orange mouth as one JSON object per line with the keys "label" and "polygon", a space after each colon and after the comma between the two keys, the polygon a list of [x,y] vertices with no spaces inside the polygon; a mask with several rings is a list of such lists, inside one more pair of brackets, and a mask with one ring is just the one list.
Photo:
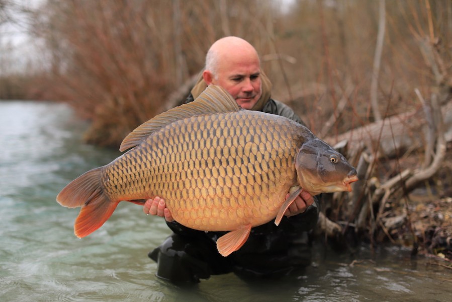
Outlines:
{"label": "dark grey-brown head of the carp with open orange mouth", "polygon": [[300,186],[313,196],[327,192],[350,192],[350,184],[358,180],[356,169],[345,157],[318,138],[301,146],[295,166]]}

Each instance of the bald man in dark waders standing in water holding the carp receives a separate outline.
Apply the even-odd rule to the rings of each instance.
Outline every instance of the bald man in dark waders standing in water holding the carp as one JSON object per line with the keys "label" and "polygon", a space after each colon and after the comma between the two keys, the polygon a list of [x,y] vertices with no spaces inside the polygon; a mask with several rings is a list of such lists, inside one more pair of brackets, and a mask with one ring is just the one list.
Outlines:
{"label": "bald man in dark waders standing in water holding the carp", "polygon": [[[257,52],[241,38],[225,37],[211,46],[202,79],[192,89],[188,102],[211,84],[223,87],[244,109],[278,114],[303,124],[288,106],[270,98],[271,84],[260,70]],[[196,283],[200,278],[231,271],[240,276],[287,274],[310,263],[307,231],[317,222],[318,207],[307,192],[296,198],[279,226],[270,221],[253,228],[247,242],[228,257],[221,256],[215,246],[224,232],[186,228],[172,219],[165,201],[158,196],[147,200],[143,210],[165,217],[174,232],[149,253],[158,263],[157,276],[174,283]],[[290,216],[294,217],[288,219]]]}

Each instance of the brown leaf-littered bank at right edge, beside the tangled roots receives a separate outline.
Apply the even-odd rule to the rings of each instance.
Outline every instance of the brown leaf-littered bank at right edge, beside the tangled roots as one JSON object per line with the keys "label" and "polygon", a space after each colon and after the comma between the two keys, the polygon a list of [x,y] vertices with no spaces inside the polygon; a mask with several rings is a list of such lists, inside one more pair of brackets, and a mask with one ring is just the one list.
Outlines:
{"label": "brown leaf-littered bank at right edge, beside the tangled roots", "polygon": [[381,228],[365,241],[388,242],[412,249],[412,254],[444,261],[452,268],[452,142],[442,168],[407,196],[386,203]]}

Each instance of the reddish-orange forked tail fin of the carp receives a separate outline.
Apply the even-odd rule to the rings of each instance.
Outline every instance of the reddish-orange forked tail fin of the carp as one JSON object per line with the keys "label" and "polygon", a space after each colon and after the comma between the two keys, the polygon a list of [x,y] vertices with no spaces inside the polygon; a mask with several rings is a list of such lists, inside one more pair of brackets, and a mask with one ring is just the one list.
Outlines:
{"label": "reddish-orange forked tail fin of the carp", "polygon": [[84,173],[70,182],[56,197],[62,206],[81,207],[75,219],[74,233],[85,237],[99,229],[112,215],[119,201],[110,200],[101,186],[102,168]]}

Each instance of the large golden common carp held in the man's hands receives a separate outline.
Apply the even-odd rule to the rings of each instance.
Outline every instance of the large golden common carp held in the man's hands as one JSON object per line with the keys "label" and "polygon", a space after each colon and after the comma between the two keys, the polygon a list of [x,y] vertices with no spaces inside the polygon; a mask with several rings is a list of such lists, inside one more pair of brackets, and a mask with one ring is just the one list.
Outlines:
{"label": "large golden common carp held in the man's hands", "polygon": [[81,207],[77,237],[99,229],[120,201],[143,204],[160,196],[173,218],[189,228],[231,231],[217,241],[227,256],[253,226],[275,217],[278,225],[301,190],[350,191],[357,180],[345,158],[306,127],[241,109],[218,86],[136,128],[120,150],[129,148],[58,194],[61,205]]}

